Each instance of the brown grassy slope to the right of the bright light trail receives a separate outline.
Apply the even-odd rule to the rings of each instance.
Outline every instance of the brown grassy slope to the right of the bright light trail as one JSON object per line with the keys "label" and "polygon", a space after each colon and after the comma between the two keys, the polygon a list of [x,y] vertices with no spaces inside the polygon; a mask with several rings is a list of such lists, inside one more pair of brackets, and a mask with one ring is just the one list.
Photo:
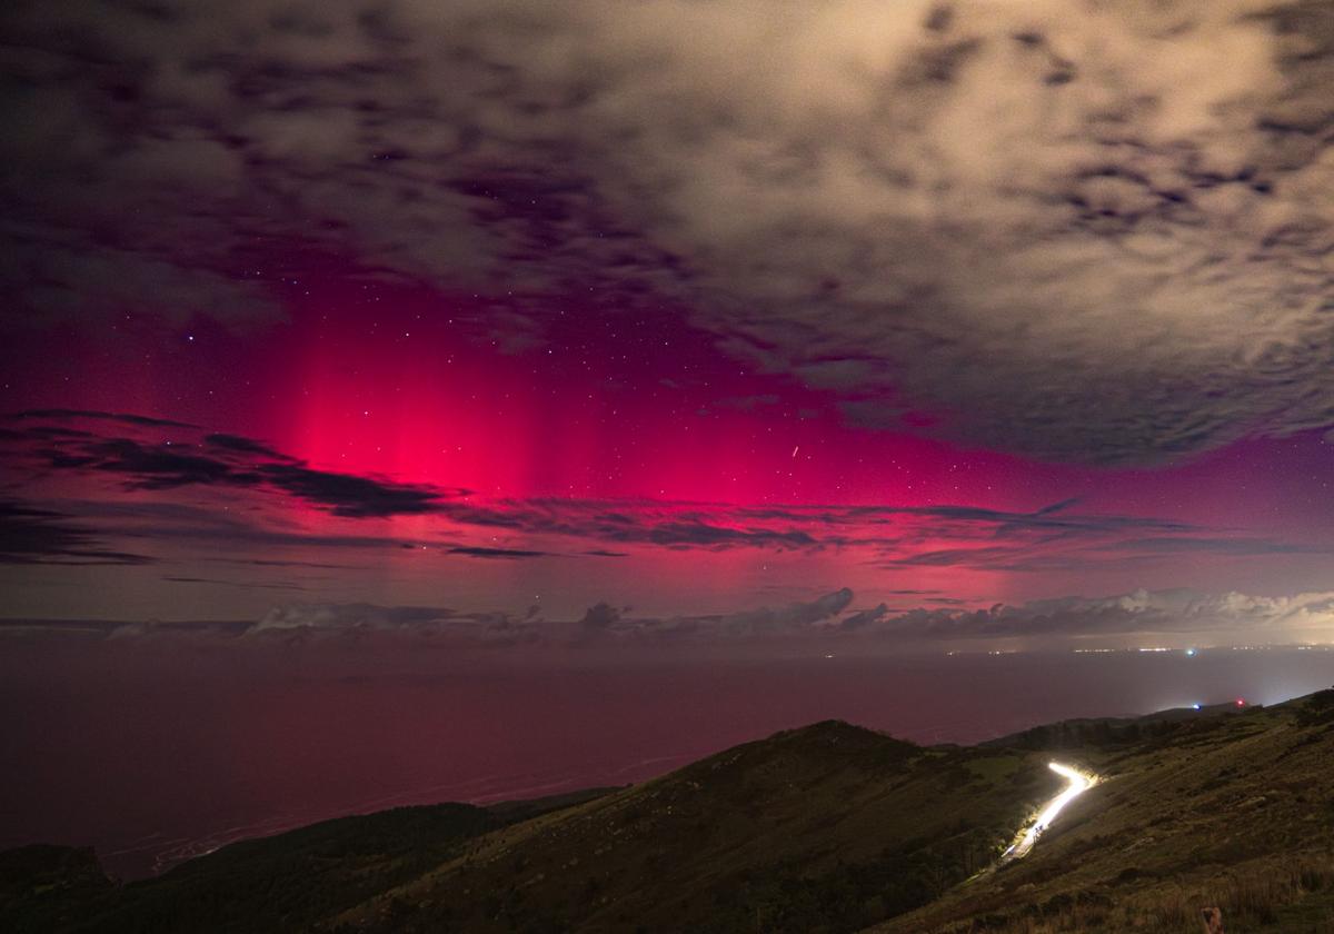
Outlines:
{"label": "brown grassy slope to the right of the bright light trail", "polygon": [[1334,931],[1334,691],[1079,758],[1107,781],[1027,859],[874,930]]}

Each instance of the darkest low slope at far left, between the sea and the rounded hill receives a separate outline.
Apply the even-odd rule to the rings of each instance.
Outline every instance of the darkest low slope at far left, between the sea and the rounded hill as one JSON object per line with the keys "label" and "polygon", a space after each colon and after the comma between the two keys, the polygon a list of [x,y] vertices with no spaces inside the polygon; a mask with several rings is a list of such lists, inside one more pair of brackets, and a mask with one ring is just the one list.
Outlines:
{"label": "darkest low slope at far left, between the sea and the rounded hill", "polygon": [[[305,930],[452,858],[474,837],[599,794],[606,790],[492,809],[434,805],[324,821],[232,843],[125,886],[101,875],[88,850],[24,847],[0,854],[0,930]],[[15,865],[7,866],[5,857]],[[63,890],[55,885],[57,869]]]}

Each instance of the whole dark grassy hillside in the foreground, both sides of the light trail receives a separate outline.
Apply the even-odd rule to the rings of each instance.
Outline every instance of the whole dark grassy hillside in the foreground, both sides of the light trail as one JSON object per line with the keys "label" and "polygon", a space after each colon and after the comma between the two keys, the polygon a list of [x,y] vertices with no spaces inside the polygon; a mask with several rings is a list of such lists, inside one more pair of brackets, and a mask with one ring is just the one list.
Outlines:
{"label": "whole dark grassy hillside in the foreground, both sides of the light trail", "polygon": [[[1334,925],[1334,691],[1071,721],[978,747],[840,722],[643,785],[396,809],[116,886],[87,850],[0,854],[11,931],[1198,931]],[[1046,747],[1043,747],[1046,746]],[[1077,762],[1103,782],[996,855]]]}

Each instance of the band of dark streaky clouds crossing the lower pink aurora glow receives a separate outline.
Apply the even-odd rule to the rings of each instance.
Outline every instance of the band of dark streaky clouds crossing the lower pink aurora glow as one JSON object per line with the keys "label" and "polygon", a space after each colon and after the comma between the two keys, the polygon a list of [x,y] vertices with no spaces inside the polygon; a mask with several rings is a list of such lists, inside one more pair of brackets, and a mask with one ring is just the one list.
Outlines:
{"label": "band of dark streaky clouds crossing the lower pink aurora glow", "polygon": [[[872,572],[1087,572],[1167,555],[1326,555],[1179,519],[964,504],[771,504],[486,498],[458,487],[329,471],[240,435],[99,411],[27,411],[0,422],[0,563],[152,563],[183,543],[264,548],[263,566],[327,568],[334,548],[412,550],[495,563],[674,552],[838,552]],[[77,491],[69,499],[68,491]],[[304,507],[295,512],[292,506]],[[305,514],[313,514],[305,515]],[[394,524],[410,518],[411,526]],[[155,547],[160,546],[159,547]],[[297,548],[288,559],[273,548]],[[203,579],[203,575],[191,574]],[[177,578],[179,582],[179,578]],[[272,583],[272,582],[271,582]],[[912,595],[916,591],[886,591]],[[854,627],[863,624],[852,623]]]}

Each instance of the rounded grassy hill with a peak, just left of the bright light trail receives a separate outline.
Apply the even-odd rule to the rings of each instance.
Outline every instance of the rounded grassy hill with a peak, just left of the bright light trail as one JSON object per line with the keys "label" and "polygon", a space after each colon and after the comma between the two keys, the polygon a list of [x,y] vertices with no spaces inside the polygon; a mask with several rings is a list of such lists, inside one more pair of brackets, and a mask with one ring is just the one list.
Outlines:
{"label": "rounded grassy hill with a peak, just left of the bright light trail", "polygon": [[474,841],[343,915],[394,931],[847,931],[994,858],[1061,782],[1034,753],[827,722]]}

